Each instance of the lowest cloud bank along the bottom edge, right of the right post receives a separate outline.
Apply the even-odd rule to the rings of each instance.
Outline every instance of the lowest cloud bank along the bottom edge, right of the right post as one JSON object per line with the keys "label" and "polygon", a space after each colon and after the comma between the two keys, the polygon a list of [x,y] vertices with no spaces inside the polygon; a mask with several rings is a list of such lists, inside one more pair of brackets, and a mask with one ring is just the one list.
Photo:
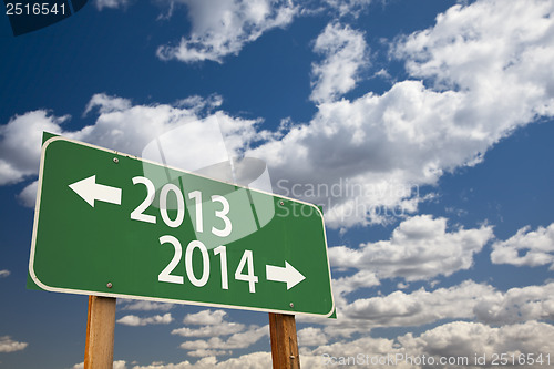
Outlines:
{"label": "lowest cloud bank along the bottom edge, right of the right post", "polygon": [[[525,366],[541,368],[547,365],[546,353],[553,350],[554,326],[527,321],[504,327],[491,327],[480,322],[453,321],[423,331],[419,336],[407,334],[396,339],[361,337],[304,349],[300,352],[302,366],[328,368],[350,360],[350,366],[371,366],[375,368],[483,368],[491,366],[493,355],[542,352],[543,363]],[[427,358],[427,366],[422,363]],[[475,357],[484,357],[485,362],[475,362]],[[332,358],[332,359],[331,359]],[[441,359],[442,358],[442,359]],[[334,361],[331,361],[334,360]],[[358,361],[356,361],[358,360]],[[379,361],[380,360],[380,361]],[[429,365],[434,360],[432,365]],[[443,360],[444,363],[440,363]],[[450,365],[448,363],[450,360]]]}

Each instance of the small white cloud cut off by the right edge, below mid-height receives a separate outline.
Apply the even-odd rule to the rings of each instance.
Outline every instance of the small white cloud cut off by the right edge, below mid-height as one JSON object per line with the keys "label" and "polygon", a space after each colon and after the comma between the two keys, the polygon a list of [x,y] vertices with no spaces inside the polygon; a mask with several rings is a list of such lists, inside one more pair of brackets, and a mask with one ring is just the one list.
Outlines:
{"label": "small white cloud cut off by the right edge, below mid-height", "polygon": [[492,245],[491,260],[494,264],[540,266],[551,264],[554,269],[554,223],[536,230],[526,226],[506,240]]}

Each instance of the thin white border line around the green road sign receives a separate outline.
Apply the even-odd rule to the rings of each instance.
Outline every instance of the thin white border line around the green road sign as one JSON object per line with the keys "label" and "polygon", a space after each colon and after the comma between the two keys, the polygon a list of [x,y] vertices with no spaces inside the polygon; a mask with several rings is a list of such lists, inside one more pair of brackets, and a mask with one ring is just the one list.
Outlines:
{"label": "thin white border line around the green road sign", "polygon": [[[321,223],[322,223],[322,226],[324,226],[325,255],[326,255],[326,258],[327,258],[327,266],[329,267],[329,288],[330,288],[330,294],[331,294],[331,309],[330,309],[330,311],[328,314],[312,314],[312,312],[295,311],[294,309],[291,309],[291,310],[277,310],[277,309],[265,309],[265,308],[248,307],[248,306],[238,306],[238,305],[235,306],[235,305],[225,305],[225,304],[198,303],[198,301],[187,301],[187,300],[178,300],[178,299],[170,299],[170,298],[146,297],[146,296],[137,296],[137,295],[123,295],[123,294],[88,291],[88,290],[81,290],[81,289],[59,288],[59,287],[51,287],[51,286],[44,285],[42,281],[39,280],[39,278],[37,277],[35,273],[34,273],[34,248],[35,248],[35,244],[37,244],[37,232],[38,232],[39,213],[40,213],[40,198],[41,198],[41,194],[42,194],[42,174],[43,174],[43,168],[44,168],[44,155],[45,155],[48,146],[51,143],[55,142],[55,141],[66,141],[66,142],[71,142],[71,143],[74,143],[74,144],[78,144],[78,145],[88,146],[88,147],[92,147],[92,148],[95,148],[95,150],[100,150],[100,151],[113,153],[115,155],[127,156],[127,157],[131,157],[131,158],[138,160],[141,162],[153,164],[153,165],[160,165],[160,166],[167,167],[167,168],[171,168],[171,170],[175,170],[175,171],[178,171],[178,172],[188,173],[188,174],[192,174],[192,175],[195,175],[195,176],[199,176],[199,177],[204,177],[204,178],[207,178],[207,180],[218,181],[218,180],[209,178],[209,177],[204,176],[204,175],[199,175],[199,174],[192,173],[192,172],[188,172],[188,171],[183,171],[183,170],[175,168],[175,167],[172,167],[172,166],[168,166],[168,165],[163,165],[163,164],[160,164],[160,163],[156,163],[156,162],[153,162],[153,161],[148,161],[148,160],[145,160],[145,158],[136,157],[134,155],[129,155],[129,154],[120,153],[117,151],[113,151],[113,150],[100,147],[100,146],[88,144],[88,143],[84,143],[84,142],[80,142],[80,141],[76,141],[76,140],[66,139],[66,137],[63,137],[63,136],[54,136],[54,137],[51,137],[51,139],[47,140],[43,143],[43,145],[42,145],[41,157],[40,157],[39,183],[38,183],[38,189],[37,189],[37,203],[35,203],[35,207],[34,207],[33,234],[32,234],[32,240],[31,240],[31,255],[30,255],[30,258],[29,258],[29,274],[30,274],[32,280],[40,288],[42,288],[42,289],[44,289],[47,291],[52,291],[52,293],[64,293],[64,294],[75,294],[75,295],[93,295],[93,296],[115,297],[115,298],[130,298],[130,299],[147,300],[147,301],[160,301],[160,303],[171,303],[171,304],[186,304],[186,305],[196,305],[196,306],[220,307],[220,308],[228,308],[228,309],[265,311],[265,312],[277,312],[277,314],[295,314],[295,315],[317,316],[317,317],[330,317],[335,312],[335,298],[334,298],[334,295],[332,295],[331,270],[330,270],[330,266],[329,266],[329,256],[327,254],[327,234],[325,232],[324,214],[321,213],[321,211],[319,209],[319,207],[317,207],[316,205],[310,204],[310,203],[306,203],[306,202],[298,201],[298,199],[290,198],[290,197],[286,197],[286,196],[275,195],[275,194],[271,194],[271,193],[268,193],[268,192],[264,192],[264,191],[259,191],[259,189],[247,188],[245,186],[236,185],[234,183],[233,183],[233,185],[237,186],[237,187],[242,187],[242,188],[249,189],[249,191],[256,191],[258,193],[263,193],[263,194],[266,194],[266,195],[269,195],[269,196],[279,197],[279,198],[284,198],[284,199],[288,199],[288,201],[291,201],[291,202],[296,202],[296,203],[300,203],[300,204],[305,204],[305,205],[311,206],[311,207],[316,208],[316,211],[320,214]],[[222,182],[222,181],[218,181],[218,182]]]}

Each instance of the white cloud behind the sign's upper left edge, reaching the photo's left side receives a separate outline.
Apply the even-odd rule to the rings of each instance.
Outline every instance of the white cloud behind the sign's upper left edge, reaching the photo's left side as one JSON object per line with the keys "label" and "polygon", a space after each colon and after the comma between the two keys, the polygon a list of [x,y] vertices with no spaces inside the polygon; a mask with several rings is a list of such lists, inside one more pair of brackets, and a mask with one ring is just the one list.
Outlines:
{"label": "white cloud behind the sign's upper left edge, reaching the photo's left side", "polygon": [[[148,143],[171,131],[174,140],[164,142],[163,150],[166,156],[184,158],[184,163],[170,163],[184,170],[196,168],[187,165],[193,158],[198,162],[198,150],[204,152],[204,162],[214,164],[222,161],[222,151],[225,158],[238,156],[249,141],[259,140],[266,134],[255,127],[259,120],[232,117],[223,112],[197,115],[203,112],[206,114],[211,106],[220,104],[220,99],[193,98],[177,102],[176,106],[132,105],[126,99],[95,94],[85,113],[98,111],[99,116],[93,125],[80,131],[63,130],[62,123],[69,116],[58,117],[42,110],[16,115],[8,124],[0,126],[0,185],[19,183],[38,175],[42,131],[135,156],[143,156]],[[206,134],[204,127],[207,126],[215,127],[217,134]],[[203,140],[192,140],[191,133],[202,135]],[[183,142],[188,144],[183,145]],[[222,150],[215,150],[222,145]],[[205,147],[212,150],[206,151]],[[34,206],[37,186],[37,183],[31,183],[19,195],[24,205]]]}

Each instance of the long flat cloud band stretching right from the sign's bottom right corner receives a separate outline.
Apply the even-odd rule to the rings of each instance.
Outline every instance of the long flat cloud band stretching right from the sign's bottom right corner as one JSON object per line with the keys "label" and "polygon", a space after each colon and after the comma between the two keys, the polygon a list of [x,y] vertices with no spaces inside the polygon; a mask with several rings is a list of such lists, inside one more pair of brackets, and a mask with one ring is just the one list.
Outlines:
{"label": "long flat cloud band stretching right from the sign's bottom right corner", "polygon": [[[339,319],[325,322],[328,337],[351,337],[376,327],[420,327],[443,320],[476,320],[492,326],[554,319],[554,283],[501,291],[486,284],[460,285],[387,296],[337,299]],[[311,318],[300,321],[321,324]]]}

